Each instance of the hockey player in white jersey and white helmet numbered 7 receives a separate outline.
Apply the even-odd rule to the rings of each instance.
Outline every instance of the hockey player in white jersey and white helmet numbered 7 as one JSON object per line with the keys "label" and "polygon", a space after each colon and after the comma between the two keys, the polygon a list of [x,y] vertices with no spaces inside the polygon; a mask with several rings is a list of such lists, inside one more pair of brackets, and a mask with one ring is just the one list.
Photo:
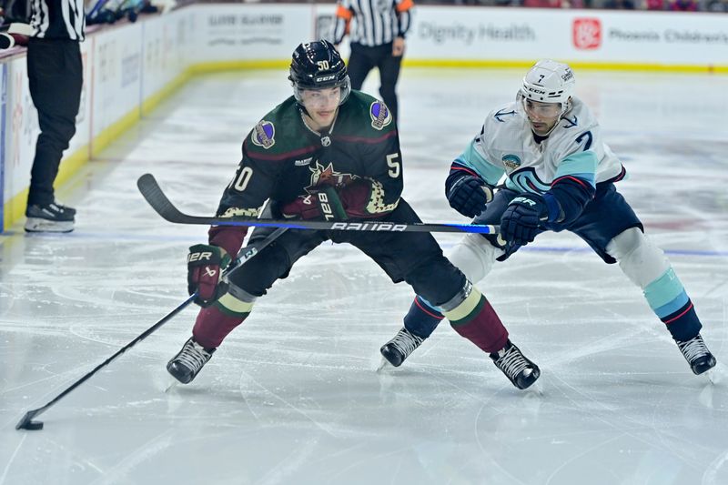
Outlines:
{"label": "hockey player in white jersey and white helmet numbered 7", "polygon": [[[450,206],[474,224],[500,224],[498,236],[469,234],[448,258],[473,283],[495,261],[504,261],[541,232],[568,230],[605,263],[619,263],[642,288],[693,373],[715,366],[700,335],[693,302],[660,248],[644,236],[642,222],[617,192],[625,176],[620,160],[602,142],[588,106],[573,95],[571,67],[541,60],[523,78],[515,102],[490,112],[480,134],[452,162],[445,182]],[[505,187],[495,191],[503,176]],[[428,338],[440,311],[416,297],[404,327],[381,348],[399,366]],[[507,356],[491,354],[498,365]]]}

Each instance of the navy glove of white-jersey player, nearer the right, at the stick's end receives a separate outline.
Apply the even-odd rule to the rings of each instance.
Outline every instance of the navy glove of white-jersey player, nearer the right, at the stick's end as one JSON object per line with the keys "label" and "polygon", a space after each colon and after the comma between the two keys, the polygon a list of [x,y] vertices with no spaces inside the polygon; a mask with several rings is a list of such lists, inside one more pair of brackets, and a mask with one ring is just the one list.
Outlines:
{"label": "navy glove of white-jersey player, nearer the right, at the stick's end", "polygon": [[522,194],[511,200],[501,216],[501,235],[511,244],[525,246],[542,231],[541,221],[549,217],[543,197]]}

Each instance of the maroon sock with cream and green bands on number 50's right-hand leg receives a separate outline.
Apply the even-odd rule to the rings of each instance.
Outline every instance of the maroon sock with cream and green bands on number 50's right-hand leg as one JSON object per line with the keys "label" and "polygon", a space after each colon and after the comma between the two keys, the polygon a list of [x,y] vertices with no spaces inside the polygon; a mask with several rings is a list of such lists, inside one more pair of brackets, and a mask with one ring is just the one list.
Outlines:
{"label": "maroon sock with cream and green bands on number 50's right-hand leg", "polygon": [[[443,305],[443,308],[446,306]],[[508,330],[478,288],[472,288],[459,305],[444,314],[460,336],[468,338],[489,354],[503,349],[508,341]]]}

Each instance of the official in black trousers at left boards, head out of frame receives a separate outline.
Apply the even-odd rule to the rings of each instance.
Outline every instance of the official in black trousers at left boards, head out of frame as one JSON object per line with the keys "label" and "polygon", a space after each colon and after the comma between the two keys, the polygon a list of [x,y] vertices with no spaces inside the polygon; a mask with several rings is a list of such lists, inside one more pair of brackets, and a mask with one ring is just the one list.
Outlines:
{"label": "official in black trousers at left boards, head out of frame", "polygon": [[63,152],[76,134],[83,65],[83,0],[30,0],[27,69],[30,96],[38,111],[40,135],[35,143],[30,190],[25,209],[28,232],[70,232],[76,210],[56,202],[53,183]]}

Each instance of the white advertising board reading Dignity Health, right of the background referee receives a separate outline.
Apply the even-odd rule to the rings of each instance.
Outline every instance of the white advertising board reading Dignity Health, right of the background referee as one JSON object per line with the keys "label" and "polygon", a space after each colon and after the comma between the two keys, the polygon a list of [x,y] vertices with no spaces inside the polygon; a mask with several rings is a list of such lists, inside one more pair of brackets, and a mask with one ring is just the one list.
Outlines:
{"label": "white advertising board reading Dignity Health, right of the background referee", "polygon": [[725,15],[418,6],[409,60],[728,66]]}

